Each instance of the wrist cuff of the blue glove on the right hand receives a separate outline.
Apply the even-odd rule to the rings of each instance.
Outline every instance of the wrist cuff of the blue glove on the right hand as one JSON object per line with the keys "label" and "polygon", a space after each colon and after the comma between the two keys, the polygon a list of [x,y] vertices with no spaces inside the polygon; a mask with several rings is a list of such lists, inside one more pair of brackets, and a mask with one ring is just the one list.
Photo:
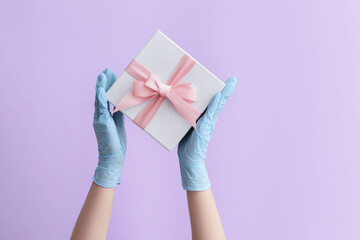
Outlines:
{"label": "wrist cuff of the blue glove on the right hand", "polygon": [[211,188],[210,180],[204,165],[186,165],[180,161],[181,180],[184,190],[204,191]]}

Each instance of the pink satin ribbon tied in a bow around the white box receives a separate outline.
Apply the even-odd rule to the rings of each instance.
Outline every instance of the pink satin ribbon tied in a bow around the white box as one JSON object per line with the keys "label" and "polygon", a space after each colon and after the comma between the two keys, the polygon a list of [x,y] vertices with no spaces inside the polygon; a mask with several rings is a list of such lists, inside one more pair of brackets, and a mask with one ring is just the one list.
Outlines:
{"label": "pink satin ribbon tied in a bow around the white box", "polygon": [[122,98],[114,112],[151,99],[134,119],[139,127],[145,129],[167,98],[175,110],[195,128],[200,112],[190,103],[196,101],[197,88],[191,83],[178,84],[195,64],[195,60],[185,54],[170,76],[168,83],[164,84],[144,66],[133,60],[125,70],[136,79],[133,82],[133,90]]}

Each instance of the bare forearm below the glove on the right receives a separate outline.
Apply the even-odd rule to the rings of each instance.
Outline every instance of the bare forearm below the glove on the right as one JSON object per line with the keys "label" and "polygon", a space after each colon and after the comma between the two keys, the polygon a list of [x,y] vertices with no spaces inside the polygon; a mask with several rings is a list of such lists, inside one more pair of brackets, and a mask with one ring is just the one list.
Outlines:
{"label": "bare forearm below the glove on the right", "polygon": [[221,219],[211,189],[187,191],[193,240],[225,238]]}

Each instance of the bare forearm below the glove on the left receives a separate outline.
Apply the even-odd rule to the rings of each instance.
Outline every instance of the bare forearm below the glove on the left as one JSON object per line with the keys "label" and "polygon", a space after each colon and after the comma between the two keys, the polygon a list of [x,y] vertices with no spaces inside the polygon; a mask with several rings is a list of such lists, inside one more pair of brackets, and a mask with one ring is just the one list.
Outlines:
{"label": "bare forearm below the glove on the left", "polygon": [[71,239],[106,239],[113,197],[114,188],[100,187],[93,182]]}

